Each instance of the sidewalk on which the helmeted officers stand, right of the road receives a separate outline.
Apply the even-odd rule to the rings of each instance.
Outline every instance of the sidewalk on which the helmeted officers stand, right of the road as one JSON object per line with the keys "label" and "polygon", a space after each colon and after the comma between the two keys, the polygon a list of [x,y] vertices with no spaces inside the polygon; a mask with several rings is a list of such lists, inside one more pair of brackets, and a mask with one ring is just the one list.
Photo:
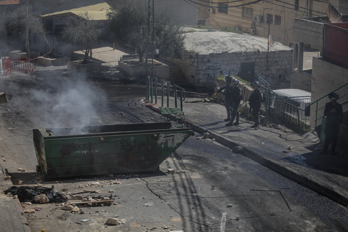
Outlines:
{"label": "sidewalk on which the helmeted officers stand, right of the road", "polygon": [[[261,126],[260,130],[254,130],[250,127],[253,122],[240,118],[238,126],[227,127],[223,121],[227,115],[224,106],[199,100],[202,99],[186,98],[183,103],[186,125],[193,131],[200,134],[208,132],[210,139],[232,150],[242,146],[242,154],[251,160],[343,206],[348,205],[347,154],[319,155],[321,148],[318,147],[316,134],[309,132],[299,135],[281,125],[272,127],[268,124]],[[169,106],[174,105],[174,98],[171,98]],[[145,106],[159,112],[161,104],[145,103]],[[283,152],[288,149],[288,145],[294,145],[294,149]]]}

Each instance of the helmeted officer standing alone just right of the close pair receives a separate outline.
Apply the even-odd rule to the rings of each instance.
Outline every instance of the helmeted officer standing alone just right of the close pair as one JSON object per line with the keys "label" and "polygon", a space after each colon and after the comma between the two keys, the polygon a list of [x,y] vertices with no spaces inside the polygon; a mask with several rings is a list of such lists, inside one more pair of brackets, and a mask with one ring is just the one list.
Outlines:
{"label": "helmeted officer standing alone just right of the close pair", "polygon": [[255,130],[258,130],[260,129],[259,116],[260,116],[261,102],[263,101],[263,94],[259,90],[259,87],[260,87],[259,82],[253,82],[252,86],[254,87],[254,91],[251,93],[248,101],[249,101],[250,108],[253,111],[255,124],[251,127],[255,128]]}

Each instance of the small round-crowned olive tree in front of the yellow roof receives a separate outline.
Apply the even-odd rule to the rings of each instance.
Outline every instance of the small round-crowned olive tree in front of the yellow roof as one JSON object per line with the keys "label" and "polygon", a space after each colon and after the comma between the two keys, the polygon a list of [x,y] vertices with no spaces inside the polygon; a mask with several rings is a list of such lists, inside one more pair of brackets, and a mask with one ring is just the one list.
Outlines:
{"label": "small round-crowned olive tree in front of the yellow roof", "polygon": [[93,17],[85,12],[84,15],[72,16],[73,23],[67,23],[62,31],[62,39],[66,42],[71,42],[76,45],[84,46],[82,52],[85,53],[82,64],[88,62],[90,52],[90,42],[98,39],[102,34],[102,29],[98,28],[98,22],[93,20]]}

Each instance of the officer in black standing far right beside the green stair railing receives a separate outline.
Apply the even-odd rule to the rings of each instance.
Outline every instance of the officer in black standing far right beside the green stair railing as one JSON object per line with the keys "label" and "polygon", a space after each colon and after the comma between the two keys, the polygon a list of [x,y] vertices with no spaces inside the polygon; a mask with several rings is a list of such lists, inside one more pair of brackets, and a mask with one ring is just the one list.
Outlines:
{"label": "officer in black standing far right beside the green stair railing", "polygon": [[340,103],[337,102],[339,98],[337,93],[330,93],[329,99],[331,102],[325,104],[324,116],[326,117],[325,124],[325,143],[323,150],[319,154],[327,154],[327,149],[331,143],[331,155],[335,154],[335,148],[337,144],[337,134],[340,125],[343,121],[343,110]]}

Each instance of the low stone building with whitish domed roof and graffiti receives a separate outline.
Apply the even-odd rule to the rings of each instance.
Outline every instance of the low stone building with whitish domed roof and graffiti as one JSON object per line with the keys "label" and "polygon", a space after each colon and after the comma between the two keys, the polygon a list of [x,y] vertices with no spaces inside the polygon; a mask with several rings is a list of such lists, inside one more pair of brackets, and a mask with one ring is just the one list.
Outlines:
{"label": "low stone building with whitish domed roof and graffiti", "polygon": [[185,46],[186,57],[172,61],[193,86],[213,90],[222,70],[249,82],[260,75],[272,88],[290,87],[293,50],[278,42],[268,47],[267,39],[248,34],[191,32]]}

